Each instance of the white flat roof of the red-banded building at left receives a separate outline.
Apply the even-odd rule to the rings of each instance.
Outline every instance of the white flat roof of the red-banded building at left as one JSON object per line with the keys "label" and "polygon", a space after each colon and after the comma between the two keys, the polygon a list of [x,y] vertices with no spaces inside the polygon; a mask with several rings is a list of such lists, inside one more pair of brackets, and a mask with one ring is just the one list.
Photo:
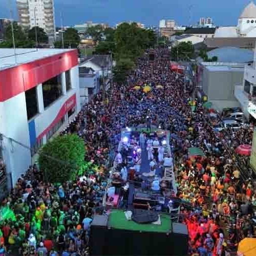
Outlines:
{"label": "white flat roof of the red-banded building at left", "polygon": [[16,49],[16,63],[12,48],[0,48],[0,70],[12,68],[24,63],[50,57],[52,55],[74,51],[74,49]]}

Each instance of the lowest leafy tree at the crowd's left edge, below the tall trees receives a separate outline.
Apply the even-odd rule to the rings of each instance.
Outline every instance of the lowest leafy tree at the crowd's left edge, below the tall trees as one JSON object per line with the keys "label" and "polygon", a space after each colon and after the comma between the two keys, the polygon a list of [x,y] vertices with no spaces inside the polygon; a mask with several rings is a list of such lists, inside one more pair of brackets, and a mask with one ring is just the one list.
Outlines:
{"label": "lowest leafy tree at the crowd's left edge, below the tall trees", "polygon": [[113,69],[114,81],[121,84],[125,81],[125,77],[129,71],[135,67],[133,60],[129,58],[119,59]]}

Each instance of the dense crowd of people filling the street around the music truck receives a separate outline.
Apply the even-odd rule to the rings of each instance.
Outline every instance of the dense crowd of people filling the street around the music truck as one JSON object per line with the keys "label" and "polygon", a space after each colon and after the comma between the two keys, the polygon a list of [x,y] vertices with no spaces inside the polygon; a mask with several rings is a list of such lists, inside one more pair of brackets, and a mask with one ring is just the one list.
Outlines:
{"label": "dense crowd of people filling the street around the music truck", "polygon": [[[105,101],[95,95],[61,133],[83,138],[85,159],[101,172],[56,185],[45,183],[34,165],[20,177],[2,202],[14,216],[0,223],[0,255],[87,255],[90,224],[104,211],[108,167],[119,154],[121,129],[138,125],[170,131],[177,197],[187,202],[180,221],[188,227],[190,254],[224,255],[241,239],[256,237],[254,182],[241,178],[237,160],[224,147],[250,144],[252,127],[230,131],[230,139],[215,133],[200,103],[191,111],[191,91],[184,76],[169,68],[167,51],[154,50],[153,61],[148,54],[139,58],[125,84],[114,84]],[[143,92],[144,86],[151,91]],[[201,148],[205,156],[189,155],[190,147]]]}

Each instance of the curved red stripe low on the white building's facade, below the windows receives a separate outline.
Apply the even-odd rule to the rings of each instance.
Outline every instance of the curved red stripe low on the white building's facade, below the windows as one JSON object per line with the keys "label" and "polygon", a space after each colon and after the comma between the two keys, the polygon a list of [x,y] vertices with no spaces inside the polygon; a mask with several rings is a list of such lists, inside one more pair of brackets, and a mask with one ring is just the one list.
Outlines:
{"label": "curved red stripe low on the white building's facade, below the windows", "polygon": [[42,132],[40,135],[37,136],[37,140],[41,139],[44,135],[46,135],[59,121],[60,119],[68,113],[69,110],[74,108],[76,105],[76,94],[72,95],[62,106],[59,110],[57,116],[52,121],[52,123]]}

